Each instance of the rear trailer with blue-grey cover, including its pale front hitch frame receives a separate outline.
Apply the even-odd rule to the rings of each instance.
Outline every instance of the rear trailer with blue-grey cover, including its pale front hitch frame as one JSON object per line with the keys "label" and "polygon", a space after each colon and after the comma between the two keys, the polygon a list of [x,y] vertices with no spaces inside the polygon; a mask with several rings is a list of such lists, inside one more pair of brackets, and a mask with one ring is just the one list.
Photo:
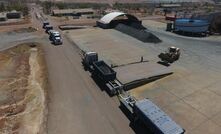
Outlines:
{"label": "rear trailer with blue-grey cover, including its pale front hitch frame", "polygon": [[136,100],[129,94],[119,95],[121,108],[129,112],[133,123],[140,121],[154,134],[184,134],[185,130],[149,99]]}

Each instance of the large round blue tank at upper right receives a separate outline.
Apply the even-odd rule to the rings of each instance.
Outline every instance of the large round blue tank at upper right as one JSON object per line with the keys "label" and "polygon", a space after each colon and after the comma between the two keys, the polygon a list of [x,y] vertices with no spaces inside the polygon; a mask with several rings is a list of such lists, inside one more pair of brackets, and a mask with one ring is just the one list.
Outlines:
{"label": "large round blue tank at upper right", "polygon": [[209,29],[209,22],[198,19],[176,19],[174,30],[190,33],[206,33]]}

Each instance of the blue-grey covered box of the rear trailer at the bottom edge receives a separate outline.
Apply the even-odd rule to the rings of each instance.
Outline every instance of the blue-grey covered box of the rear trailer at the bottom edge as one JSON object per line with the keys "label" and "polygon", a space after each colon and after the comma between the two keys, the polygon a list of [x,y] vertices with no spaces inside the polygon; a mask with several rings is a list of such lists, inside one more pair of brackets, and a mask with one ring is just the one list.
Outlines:
{"label": "blue-grey covered box of the rear trailer at the bottom edge", "polygon": [[[148,99],[143,99],[135,103],[135,109],[142,114],[142,120],[154,124],[152,127],[157,134],[183,134],[184,130],[176,124],[168,115]],[[147,123],[149,124],[149,123]]]}

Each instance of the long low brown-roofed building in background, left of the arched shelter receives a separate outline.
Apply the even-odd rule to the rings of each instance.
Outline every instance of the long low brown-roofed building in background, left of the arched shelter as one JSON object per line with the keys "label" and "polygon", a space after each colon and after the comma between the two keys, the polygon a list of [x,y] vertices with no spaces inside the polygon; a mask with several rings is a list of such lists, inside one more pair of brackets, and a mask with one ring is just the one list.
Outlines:
{"label": "long low brown-roofed building in background, left of the arched shelter", "polygon": [[53,16],[82,16],[93,15],[94,10],[92,8],[83,9],[56,9],[52,11]]}

